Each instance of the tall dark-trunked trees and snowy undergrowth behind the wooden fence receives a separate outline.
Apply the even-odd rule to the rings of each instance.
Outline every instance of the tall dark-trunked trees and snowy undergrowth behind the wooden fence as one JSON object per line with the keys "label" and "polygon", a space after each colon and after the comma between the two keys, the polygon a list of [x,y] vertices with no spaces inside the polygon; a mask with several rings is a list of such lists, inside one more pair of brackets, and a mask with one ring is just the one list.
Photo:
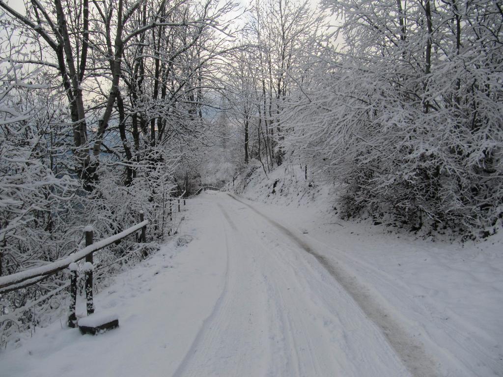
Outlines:
{"label": "tall dark-trunked trees and snowy undergrowth behind the wooden fence", "polygon": [[[140,211],[149,240],[169,233],[170,197],[199,174],[233,7],[44,0],[19,11],[0,0],[0,274],[67,256],[86,225],[104,238]],[[112,262],[127,245],[102,253]],[[0,312],[61,287],[62,276],[0,292]],[[31,317],[18,314],[22,329]]]}

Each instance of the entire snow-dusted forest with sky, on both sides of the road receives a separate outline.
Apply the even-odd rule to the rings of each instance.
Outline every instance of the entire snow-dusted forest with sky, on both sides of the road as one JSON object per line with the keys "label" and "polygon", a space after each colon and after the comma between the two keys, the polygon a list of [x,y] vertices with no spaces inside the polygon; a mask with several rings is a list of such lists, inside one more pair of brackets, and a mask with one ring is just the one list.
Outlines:
{"label": "entire snow-dusted forest with sky, on both sides of the road", "polygon": [[[140,211],[149,242],[102,262],[150,252],[170,198],[282,164],[337,187],[345,219],[484,239],[503,218],[502,27],[494,0],[0,0],[0,276]],[[0,291],[0,314],[66,274]],[[2,345],[32,326],[16,313]]]}

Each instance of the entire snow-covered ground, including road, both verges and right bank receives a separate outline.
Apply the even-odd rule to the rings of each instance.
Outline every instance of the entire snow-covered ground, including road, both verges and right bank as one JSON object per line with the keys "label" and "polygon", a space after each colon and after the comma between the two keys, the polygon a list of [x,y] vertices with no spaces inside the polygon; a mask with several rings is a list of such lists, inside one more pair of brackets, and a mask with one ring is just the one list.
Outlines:
{"label": "entire snow-covered ground, including road, both verges and right bank", "polygon": [[344,222],[298,175],[256,172],[240,190],[253,202],[189,201],[183,242],[96,295],[118,329],[82,336],[63,318],[0,352],[0,376],[503,375],[500,241]]}

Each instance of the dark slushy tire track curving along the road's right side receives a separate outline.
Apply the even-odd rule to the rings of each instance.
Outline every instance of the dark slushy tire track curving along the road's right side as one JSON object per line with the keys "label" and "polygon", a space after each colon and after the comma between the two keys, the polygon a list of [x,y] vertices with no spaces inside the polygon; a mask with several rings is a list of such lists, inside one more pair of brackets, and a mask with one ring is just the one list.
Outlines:
{"label": "dark slushy tire track curving along the road's right side", "polygon": [[340,266],[330,263],[326,257],[317,253],[310,245],[288,228],[270,219],[268,216],[249,204],[237,199],[233,195],[229,193],[227,193],[227,195],[266,219],[304,251],[316,258],[320,265],[323,266],[323,268],[339,282],[346,292],[348,292],[353,300],[355,300],[366,316],[381,329],[393,350],[414,377],[436,377],[438,375],[435,363],[431,357],[427,355],[421,341],[411,337],[355,277],[351,276]]}

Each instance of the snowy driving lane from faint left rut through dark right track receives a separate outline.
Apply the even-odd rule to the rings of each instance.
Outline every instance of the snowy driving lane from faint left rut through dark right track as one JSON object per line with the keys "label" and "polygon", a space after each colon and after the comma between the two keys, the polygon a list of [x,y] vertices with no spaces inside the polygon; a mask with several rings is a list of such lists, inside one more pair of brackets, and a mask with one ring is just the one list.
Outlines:
{"label": "snowy driving lane from faint left rut through dark right track", "polygon": [[435,375],[422,345],[299,237],[249,204],[208,197],[201,205],[223,215],[225,285],[175,375]]}

